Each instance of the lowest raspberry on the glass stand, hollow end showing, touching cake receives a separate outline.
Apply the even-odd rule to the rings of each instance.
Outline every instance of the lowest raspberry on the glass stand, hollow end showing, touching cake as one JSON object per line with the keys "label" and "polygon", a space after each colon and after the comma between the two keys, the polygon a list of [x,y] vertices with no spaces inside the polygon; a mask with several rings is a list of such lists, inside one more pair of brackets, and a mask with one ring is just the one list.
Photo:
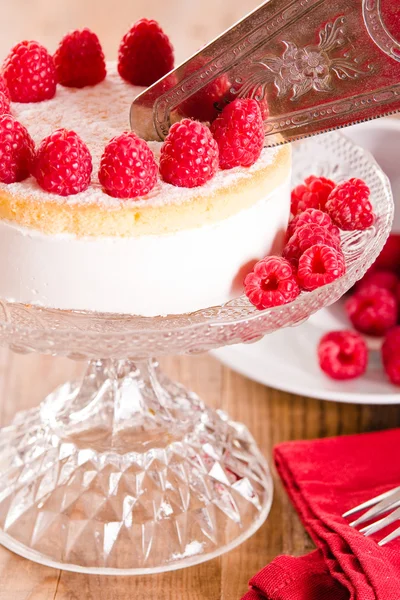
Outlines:
{"label": "lowest raspberry on the glass stand, hollow end showing, touching cake", "polygon": [[291,264],[278,256],[267,256],[256,263],[244,280],[244,289],[259,310],[292,302],[300,293]]}

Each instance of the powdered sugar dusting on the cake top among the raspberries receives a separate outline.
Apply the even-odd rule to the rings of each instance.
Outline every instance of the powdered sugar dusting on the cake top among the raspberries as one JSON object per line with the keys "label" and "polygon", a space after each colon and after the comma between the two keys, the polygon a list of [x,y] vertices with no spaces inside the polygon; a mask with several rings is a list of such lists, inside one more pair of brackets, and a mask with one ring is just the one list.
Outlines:
{"label": "powdered sugar dusting on the cake top among the raspberries", "polygon": [[[111,198],[103,192],[98,181],[101,155],[112,137],[129,131],[130,106],[141,91],[142,88],[134,87],[121,79],[116,63],[108,63],[107,77],[99,85],[79,90],[59,85],[52,100],[38,104],[12,103],[12,113],[27,127],[36,144],[60,127],[72,129],[80,135],[93,157],[92,184],[85,192],[67,198],[45,192],[32,177],[21,183],[0,184],[0,189],[3,188],[17,196],[30,196],[36,201],[52,200],[71,205],[97,203],[110,208],[122,204],[134,204],[138,207],[145,204],[159,206],[187,202],[194,196],[210,196],[218,189],[251,177],[256,171],[273,162],[277,149],[265,148],[260,159],[249,169],[238,167],[229,171],[219,171],[211,181],[199,188],[178,188],[160,180],[145,198]],[[149,145],[158,160],[161,143],[149,142]]]}

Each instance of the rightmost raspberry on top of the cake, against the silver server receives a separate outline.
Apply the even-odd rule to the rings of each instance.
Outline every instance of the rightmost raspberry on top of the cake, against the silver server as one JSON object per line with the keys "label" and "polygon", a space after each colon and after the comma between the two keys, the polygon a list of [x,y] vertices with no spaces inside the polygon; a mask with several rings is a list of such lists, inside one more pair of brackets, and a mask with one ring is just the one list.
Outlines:
{"label": "rightmost raspberry on top of the cake, against the silver server", "polygon": [[264,123],[258,102],[238,98],[225,106],[211,125],[221,169],[250,167],[264,147]]}

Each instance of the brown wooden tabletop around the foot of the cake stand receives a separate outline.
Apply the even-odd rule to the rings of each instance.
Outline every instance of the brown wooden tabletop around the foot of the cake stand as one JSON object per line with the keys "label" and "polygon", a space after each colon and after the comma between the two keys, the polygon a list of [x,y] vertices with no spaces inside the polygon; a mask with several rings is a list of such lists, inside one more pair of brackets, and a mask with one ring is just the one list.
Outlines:
{"label": "brown wooden tabletop around the foot of the cake stand", "polygon": [[[168,358],[165,370],[254,434],[270,458],[283,440],[371,431],[400,425],[397,407],[319,402],[263,387],[209,356]],[[60,358],[0,352],[0,424],[34,406],[82,365]],[[0,600],[239,600],[250,576],[281,553],[303,554],[312,543],[274,473],[275,499],[265,525],[223,557],[198,567],[148,577],[96,577],[58,572],[0,547]]]}

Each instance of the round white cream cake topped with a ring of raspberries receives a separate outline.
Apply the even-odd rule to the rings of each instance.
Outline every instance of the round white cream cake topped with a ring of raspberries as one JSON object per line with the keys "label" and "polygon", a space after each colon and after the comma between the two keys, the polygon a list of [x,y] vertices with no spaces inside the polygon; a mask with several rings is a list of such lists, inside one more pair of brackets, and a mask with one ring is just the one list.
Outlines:
{"label": "round white cream cake topped with a ring of raspberries", "polygon": [[[150,35],[153,23],[140,27]],[[282,250],[290,146],[262,148],[254,100],[232,103],[211,128],[177,123],[164,144],[136,138],[129,108],[143,88],[134,63],[127,67],[132,30],[119,64],[103,64],[97,38],[92,55],[79,58],[87,30],[67,36],[53,63],[29,43],[5,62],[1,298],[143,316],[193,312],[240,295],[255,262]],[[52,81],[28,89],[38,55],[55,91]],[[26,89],[14,85],[21,72]],[[243,148],[235,136],[247,136]]]}

